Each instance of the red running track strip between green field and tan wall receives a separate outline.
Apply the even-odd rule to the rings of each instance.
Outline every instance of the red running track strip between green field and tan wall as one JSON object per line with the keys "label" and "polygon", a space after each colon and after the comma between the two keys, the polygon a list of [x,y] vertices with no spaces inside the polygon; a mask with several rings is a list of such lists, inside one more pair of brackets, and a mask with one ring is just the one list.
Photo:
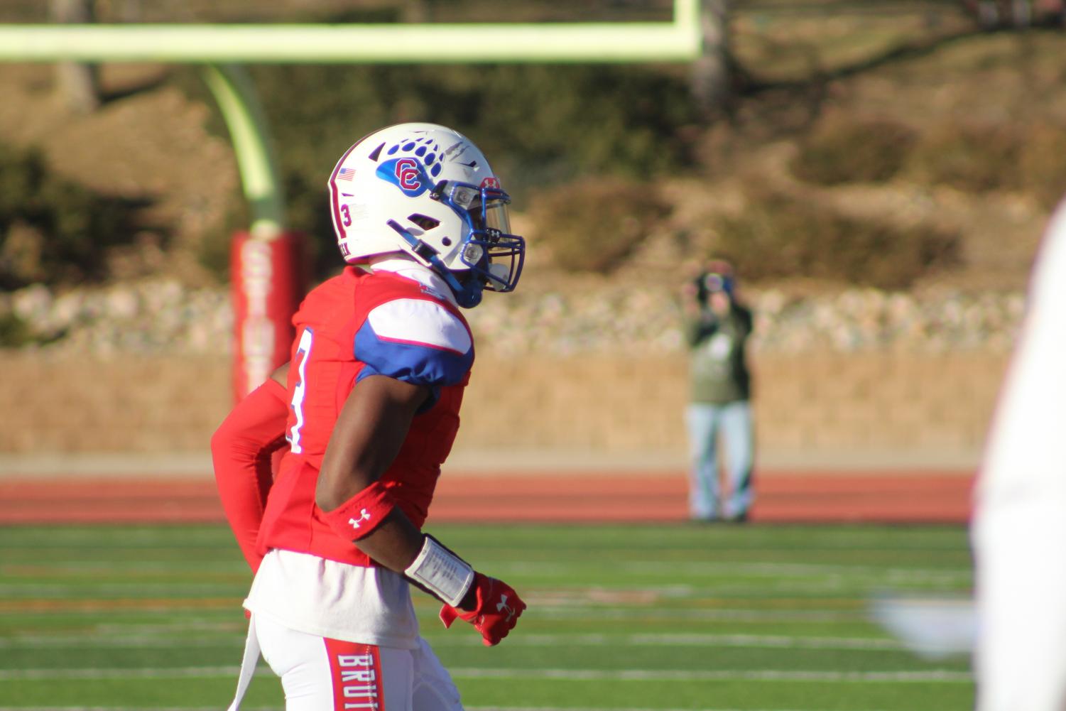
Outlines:
{"label": "red running track strip between green field and tan wall", "polygon": [[[960,523],[972,472],[760,474],[755,522]],[[522,472],[441,478],[431,521],[669,522],[688,518],[677,471]],[[160,476],[0,480],[0,524],[175,523],[225,520],[209,479]]]}

